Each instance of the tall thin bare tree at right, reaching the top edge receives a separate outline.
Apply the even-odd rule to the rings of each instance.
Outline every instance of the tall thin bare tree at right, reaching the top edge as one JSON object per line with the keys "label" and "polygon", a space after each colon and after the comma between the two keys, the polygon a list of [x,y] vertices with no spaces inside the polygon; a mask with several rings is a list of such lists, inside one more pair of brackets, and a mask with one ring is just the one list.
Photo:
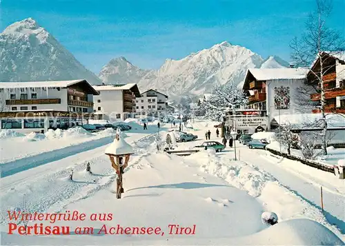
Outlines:
{"label": "tall thin bare tree at right, reaching the top edge", "polygon": [[[334,65],[328,65],[327,60],[330,59],[330,52],[334,56],[338,52],[344,51],[344,41],[338,32],[331,30],[326,26],[331,10],[332,0],[315,0],[316,10],[311,13],[308,21],[306,22],[306,32],[302,34],[302,37],[298,39],[295,37],[290,43],[290,48],[293,50],[291,57],[295,61],[297,66],[309,67],[315,61],[317,62],[318,69],[311,70],[311,77],[317,86],[314,88],[300,88],[302,102],[300,105],[310,105],[310,96],[313,90],[319,93],[319,110],[322,114],[319,122],[322,125],[322,151],[323,154],[327,154],[326,144],[326,96],[325,92],[327,88],[324,86],[324,75],[334,68]],[[315,64],[313,64],[315,65]],[[314,92],[314,93],[315,93]],[[309,98],[308,98],[309,96]],[[307,103],[306,103],[307,99]]]}

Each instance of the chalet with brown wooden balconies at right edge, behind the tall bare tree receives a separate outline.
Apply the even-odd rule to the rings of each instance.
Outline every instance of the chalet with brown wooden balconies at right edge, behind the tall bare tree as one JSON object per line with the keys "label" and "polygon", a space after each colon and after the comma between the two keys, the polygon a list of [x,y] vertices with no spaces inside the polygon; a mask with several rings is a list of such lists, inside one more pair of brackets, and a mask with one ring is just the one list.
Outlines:
{"label": "chalet with brown wooden balconies at right edge, behind the tall bare tree", "polygon": [[[337,53],[323,53],[322,63],[324,75],[322,76],[322,83],[325,92],[325,112],[326,113],[340,113],[345,114],[345,52]],[[320,59],[316,59],[311,66],[311,71],[308,73],[308,84],[316,88],[315,93],[311,94],[311,100],[315,101],[316,105],[320,105],[321,90],[319,90],[320,81],[315,76],[320,77]],[[315,107],[312,111],[314,114],[320,113],[321,110]]]}

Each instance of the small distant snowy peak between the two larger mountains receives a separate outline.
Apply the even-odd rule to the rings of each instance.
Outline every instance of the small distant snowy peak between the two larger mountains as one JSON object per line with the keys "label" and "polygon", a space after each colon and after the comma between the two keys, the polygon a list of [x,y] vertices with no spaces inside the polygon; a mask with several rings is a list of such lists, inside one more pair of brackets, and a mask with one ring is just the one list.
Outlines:
{"label": "small distant snowy peak between the two larger mountains", "polygon": [[99,78],[104,83],[137,83],[148,72],[132,65],[126,58],[118,57],[103,66]]}

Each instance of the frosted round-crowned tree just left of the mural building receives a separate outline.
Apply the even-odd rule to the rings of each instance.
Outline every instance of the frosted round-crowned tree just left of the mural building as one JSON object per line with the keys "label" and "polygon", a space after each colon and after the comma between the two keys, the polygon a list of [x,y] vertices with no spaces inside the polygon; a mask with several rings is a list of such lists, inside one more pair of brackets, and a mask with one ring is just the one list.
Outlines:
{"label": "frosted round-crowned tree just left of the mural building", "polygon": [[240,105],[246,105],[248,98],[243,90],[237,88],[233,81],[224,85],[215,85],[211,96],[201,102],[201,108],[206,112],[205,118],[221,121],[221,137],[225,134],[226,112],[235,110]]}

